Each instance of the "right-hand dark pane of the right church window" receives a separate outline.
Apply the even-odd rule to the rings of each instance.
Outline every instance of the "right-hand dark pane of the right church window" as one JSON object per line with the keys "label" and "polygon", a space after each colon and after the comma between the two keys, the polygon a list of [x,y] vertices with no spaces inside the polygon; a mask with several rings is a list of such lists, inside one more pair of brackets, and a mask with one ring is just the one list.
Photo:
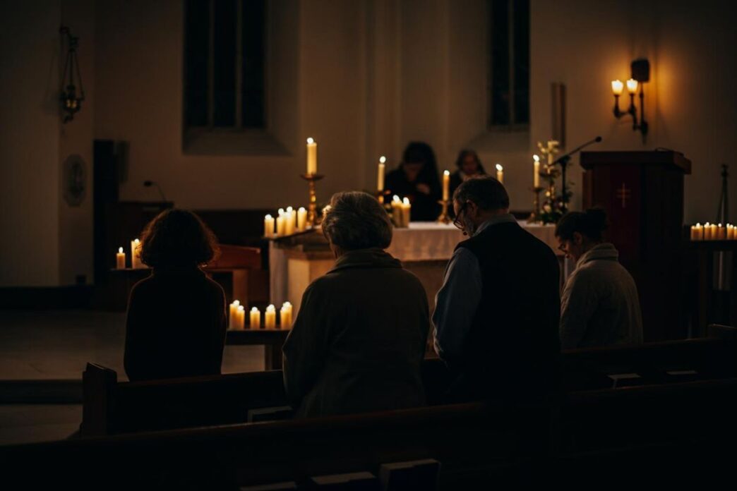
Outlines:
{"label": "right-hand dark pane of the right church window", "polygon": [[514,122],[530,122],[530,1],[514,0]]}

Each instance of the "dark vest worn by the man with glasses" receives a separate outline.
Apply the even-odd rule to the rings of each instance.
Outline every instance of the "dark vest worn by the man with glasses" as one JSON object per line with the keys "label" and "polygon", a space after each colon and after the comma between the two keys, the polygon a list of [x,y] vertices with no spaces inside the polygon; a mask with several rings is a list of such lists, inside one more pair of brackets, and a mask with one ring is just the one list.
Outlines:
{"label": "dark vest worn by the man with glasses", "polygon": [[560,353],[555,254],[516,222],[489,225],[457,247],[476,256],[483,283],[458,388],[468,398],[548,394]]}

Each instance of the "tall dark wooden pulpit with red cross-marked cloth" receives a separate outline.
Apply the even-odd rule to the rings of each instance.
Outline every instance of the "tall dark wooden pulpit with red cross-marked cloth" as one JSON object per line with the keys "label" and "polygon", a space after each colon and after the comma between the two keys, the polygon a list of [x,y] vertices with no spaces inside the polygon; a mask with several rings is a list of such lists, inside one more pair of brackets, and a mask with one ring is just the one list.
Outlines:
{"label": "tall dark wooden pulpit with red cross-marked cloth", "polygon": [[640,294],[645,341],[687,335],[682,268],[683,176],[679,152],[581,152],[584,208],[607,211],[606,239]]}

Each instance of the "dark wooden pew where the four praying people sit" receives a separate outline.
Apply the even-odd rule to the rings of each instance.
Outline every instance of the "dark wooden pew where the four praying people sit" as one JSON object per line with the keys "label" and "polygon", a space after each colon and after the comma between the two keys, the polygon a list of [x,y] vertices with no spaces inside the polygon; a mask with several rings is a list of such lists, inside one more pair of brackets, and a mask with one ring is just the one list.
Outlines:
{"label": "dark wooden pew where the four praying people sit", "polygon": [[[611,375],[622,373],[638,374],[638,385],[737,377],[736,354],[737,340],[724,339],[577,350],[562,356],[563,380],[576,392],[612,388]],[[425,360],[422,372],[428,404],[443,403],[442,361]],[[83,392],[83,437],[245,423],[249,409],[288,405],[279,370],[118,384],[113,370],[88,364]]]}

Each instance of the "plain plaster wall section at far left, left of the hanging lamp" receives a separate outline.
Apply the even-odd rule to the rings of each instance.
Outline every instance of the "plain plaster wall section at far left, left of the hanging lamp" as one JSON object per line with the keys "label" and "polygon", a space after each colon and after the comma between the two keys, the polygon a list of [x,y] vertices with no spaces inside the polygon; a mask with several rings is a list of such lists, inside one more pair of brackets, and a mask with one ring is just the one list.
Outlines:
{"label": "plain plaster wall section at far left, left of the hanging lamp", "polygon": [[0,286],[59,283],[59,1],[0,3]]}

